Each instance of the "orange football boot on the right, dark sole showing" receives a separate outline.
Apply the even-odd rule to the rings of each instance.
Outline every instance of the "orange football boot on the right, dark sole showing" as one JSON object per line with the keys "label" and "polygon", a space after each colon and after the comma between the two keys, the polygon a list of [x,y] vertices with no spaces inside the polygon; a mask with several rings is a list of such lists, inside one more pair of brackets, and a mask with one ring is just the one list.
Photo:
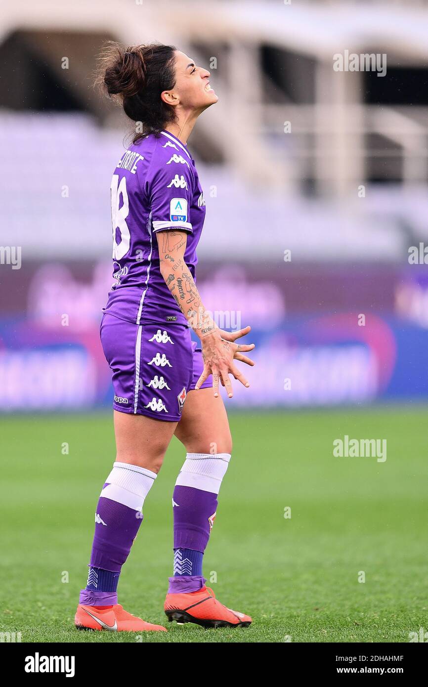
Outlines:
{"label": "orange football boot on the right, dark sole showing", "polygon": [[167,594],[165,613],[169,622],[195,622],[202,627],[248,627],[251,618],[223,606],[210,587],[188,594]]}

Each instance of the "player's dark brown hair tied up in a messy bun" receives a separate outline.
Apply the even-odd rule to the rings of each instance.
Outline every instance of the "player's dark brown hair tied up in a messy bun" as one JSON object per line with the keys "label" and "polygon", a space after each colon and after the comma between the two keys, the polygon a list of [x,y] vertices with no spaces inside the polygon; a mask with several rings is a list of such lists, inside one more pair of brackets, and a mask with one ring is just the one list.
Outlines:
{"label": "player's dark brown hair tied up in a messy bun", "polygon": [[98,60],[95,84],[111,96],[119,96],[123,109],[142,131],[133,143],[149,133],[159,134],[174,121],[174,108],[161,100],[162,91],[175,84],[173,45],[137,45],[126,49],[112,41]]}

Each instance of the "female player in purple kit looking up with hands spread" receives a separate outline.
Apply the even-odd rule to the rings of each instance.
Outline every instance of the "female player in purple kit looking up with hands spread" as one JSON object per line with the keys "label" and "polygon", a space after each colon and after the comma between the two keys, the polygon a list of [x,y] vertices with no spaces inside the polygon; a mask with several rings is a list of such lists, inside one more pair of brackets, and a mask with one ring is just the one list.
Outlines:
{"label": "female player in purple kit looking up with hands spread", "polygon": [[100,334],[113,371],[117,455],[95,513],[76,627],[166,631],[124,611],[116,589],[173,434],[187,453],[172,495],[174,575],[166,615],[203,627],[247,626],[251,618],[218,602],[202,575],[232,452],[218,387],[232,397],[229,374],[248,387],[234,359],[254,364],[243,354],[254,346],[234,343],[249,327],[234,334],[219,329],[195,284],[205,201],[187,140],[218,98],[210,72],[170,45],[111,45],[100,74],[107,93],[137,122],[137,134],[111,181],[115,284]]}

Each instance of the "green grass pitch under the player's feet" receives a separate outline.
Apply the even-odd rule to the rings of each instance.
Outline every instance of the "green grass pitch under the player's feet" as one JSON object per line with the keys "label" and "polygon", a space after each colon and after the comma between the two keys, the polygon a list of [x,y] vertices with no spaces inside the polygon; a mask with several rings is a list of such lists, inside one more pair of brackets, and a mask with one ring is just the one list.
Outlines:
{"label": "green grass pitch under the player's feet", "polygon": [[[111,416],[2,418],[0,631],[22,642],[408,642],[428,625],[426,418],[425,407],[231,414],[204,572],[225,605],[253,617],[248,629],[166,622],[184,458],[174,439],[118,590],[128,611],[168,633],[137,637],[73,624],[114,460]],[[345,434],[386,439],[387,460],[334,458]]]}

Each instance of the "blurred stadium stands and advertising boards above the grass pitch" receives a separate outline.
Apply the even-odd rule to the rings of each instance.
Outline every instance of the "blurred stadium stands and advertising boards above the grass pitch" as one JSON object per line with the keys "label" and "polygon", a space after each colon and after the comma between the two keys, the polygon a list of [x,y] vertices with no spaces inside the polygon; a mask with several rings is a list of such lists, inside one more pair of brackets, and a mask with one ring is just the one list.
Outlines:
{"label": "blurred stadium stands and advertising boards above the grass pitch", "polygon": [[[98,326],[129,127],[92,87],[111,38],[179,46],[220,95],[190,148],[201,292],[258,344],[231,407],[427,398],[411,360],[428,280],[408,253],[428,240],[427,3],[44,0],[1,20],[1,244],[22,251],[1,265],[2,412],[111,404]],[[387,54],[387,73],[334,71],[346,49]]]}

